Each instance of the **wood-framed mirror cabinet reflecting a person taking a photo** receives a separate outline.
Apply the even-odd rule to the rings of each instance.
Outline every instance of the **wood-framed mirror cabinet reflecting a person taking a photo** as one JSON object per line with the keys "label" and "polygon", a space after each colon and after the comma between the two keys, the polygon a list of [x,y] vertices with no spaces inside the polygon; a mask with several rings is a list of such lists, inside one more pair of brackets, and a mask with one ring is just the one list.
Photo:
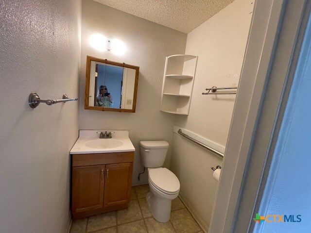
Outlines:
{"label": "wood-framed mirror cabinet reflecting a person taking a photo", "polygon": [[135,113],[139,67],[87,56],[85,109]]}

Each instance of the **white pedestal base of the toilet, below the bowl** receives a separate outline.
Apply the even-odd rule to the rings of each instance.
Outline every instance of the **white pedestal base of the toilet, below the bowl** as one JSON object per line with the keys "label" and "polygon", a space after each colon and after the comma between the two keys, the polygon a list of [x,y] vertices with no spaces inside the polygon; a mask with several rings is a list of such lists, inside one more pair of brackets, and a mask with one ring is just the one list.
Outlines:
{"label": "white pedestal base of the toilet, below the bowl", "polygon": [[168,222],[171,219],[172,200],[156,196],[149,192],[146,199],[152,216],[158,222]]}

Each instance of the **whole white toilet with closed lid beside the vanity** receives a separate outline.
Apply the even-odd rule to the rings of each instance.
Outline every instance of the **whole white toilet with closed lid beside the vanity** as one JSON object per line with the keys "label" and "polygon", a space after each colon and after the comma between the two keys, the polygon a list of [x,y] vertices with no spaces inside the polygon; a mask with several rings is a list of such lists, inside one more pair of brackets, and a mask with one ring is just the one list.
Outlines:
{"label": "whole white toilet with closed lid beside the vanity", "polygon": [[150,192],[146,199],[152,216],[158,222],[168,222],[171,218],[172,200],[177,198],[180,183],[175,174],[162,167],[169,148],[167,141],[140,141],[140,156],[144,167],[148,168]]}

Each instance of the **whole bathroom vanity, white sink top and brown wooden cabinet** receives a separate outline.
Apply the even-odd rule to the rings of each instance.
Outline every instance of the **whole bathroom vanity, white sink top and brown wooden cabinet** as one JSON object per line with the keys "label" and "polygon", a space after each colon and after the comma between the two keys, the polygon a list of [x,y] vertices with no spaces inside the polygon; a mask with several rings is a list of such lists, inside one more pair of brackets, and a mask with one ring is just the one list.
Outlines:
{"label": "whole bathroom vanity, white sink top and brown wooden cabinet", "polygon": [[109,131],[112,138],[99,138],[101,132],[81,130],[70,151],[74,219],[125,209],[130,201],[135,148],[128,131]]}

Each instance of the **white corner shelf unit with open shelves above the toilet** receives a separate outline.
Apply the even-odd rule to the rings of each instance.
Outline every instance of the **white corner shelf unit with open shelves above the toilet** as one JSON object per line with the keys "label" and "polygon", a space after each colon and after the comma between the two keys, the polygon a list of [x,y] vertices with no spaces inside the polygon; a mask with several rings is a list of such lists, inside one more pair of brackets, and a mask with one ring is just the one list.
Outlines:
{"label": "white corner shelf unit with open shelves above the toilet", "polygon": [[162,94],[162,112],[189,115],[198,57],[177,54],[166,57]]}

